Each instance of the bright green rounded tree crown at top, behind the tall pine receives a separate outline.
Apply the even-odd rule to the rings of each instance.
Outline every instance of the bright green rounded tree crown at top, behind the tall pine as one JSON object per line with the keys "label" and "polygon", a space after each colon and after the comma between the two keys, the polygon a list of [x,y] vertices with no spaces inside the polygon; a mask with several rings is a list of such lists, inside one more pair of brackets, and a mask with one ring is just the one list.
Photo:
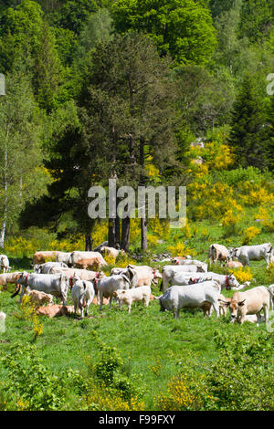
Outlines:
{"label": "bright green rounded tree crown at top, behind the tall pine", "polygon": [[216,47],[210,13],[194,0],[119,0],[112,16],[117,31],[145,32],[160,54],[169,53],[176,64],[205,64]]}

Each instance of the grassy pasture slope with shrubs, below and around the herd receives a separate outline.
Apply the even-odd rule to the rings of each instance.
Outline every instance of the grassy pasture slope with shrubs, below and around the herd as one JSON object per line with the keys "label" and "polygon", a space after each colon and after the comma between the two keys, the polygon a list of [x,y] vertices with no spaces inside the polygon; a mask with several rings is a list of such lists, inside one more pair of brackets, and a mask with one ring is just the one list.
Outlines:
{"label": "grassy pasture slope with shrubs, below and around the herd", "polygon": [[[205,227],[208,236],[202,240],[199,230]],[[274,234],[260,235],[259,243],[266,241],[274,243]],[[195,249],[195,258],[205,261],[208,246],[216,242],[238,246],[240,237],[224,239],[220,226],[201,223],[187,246]],[[156,252],[172,244],[171,236]],[[15,270],[27,269],[26,258],[16,261]],[[153,262],[149,255],[138,263],[165,264]],[[108,274],[111,267],[104,271]],[[220,265],[215,270],[227,273]],[[250,273],[249,288],[274,283],[273,267],[267,271],[265,261],[251,262]],[[216,319],[214,313],[206,319],[199,310],[182,310],[175,320],[167,311],[160,313],[157,300],[148,309],[133,304],[130,315],[125,306],[120,310],[114,303],[111,310],[104,306],[101,312],[91,305],[90,317],[82,320],[70,315],[34,321],[18,297],[11,298],[13,291],[9,285],[0,293],[0,310],[7,315],[0,333],[0,353],[5,357],[0,361],[2,410],[273,410],[273,333],[265,324],[230,324],[228,312],[227,317]],[[159,287],[153,286],[153,294],[160,296]],[[233,292],[224,294],[231,297]],[[71,305],[70,293],[68,297]],[[40,330],[35,330],[36,324]],[[30,371],[38,358],[41,366],[34,368],[44,373],[41,379]],[[20,371],[16,365],[22,365]],[[264,382],[259,385],[262,369]],[[27,371],[37,379],[31,390],[26,387]],[[58,398],[52,398],[60,374],[65,374],[67,384],[59,386]],[[50,378],[54,375],[55,381]],[[42,398],[32,402],[39,382],[47,384],[48,397],[40,393]]]}

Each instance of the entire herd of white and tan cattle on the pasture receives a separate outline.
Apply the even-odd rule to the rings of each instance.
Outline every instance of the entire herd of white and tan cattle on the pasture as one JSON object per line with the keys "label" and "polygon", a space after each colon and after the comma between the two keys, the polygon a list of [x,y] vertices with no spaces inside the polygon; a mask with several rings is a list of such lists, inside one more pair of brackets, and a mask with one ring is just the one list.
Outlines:
{"label": "entire herd of white and tan cattle on the pasture", "polygon": [[[3,274],[0,274],[0,285],[6,288],[9,283],[15,284],[16,290],[12,298],[21,290],[22,302],[23,295],[28,294],[37,310],[43,309],[39,314],[47,314],[47,309],[52,309],[55,305],[53,297],[60,298],[62,302],[62,306],[57,307],[67,308],[70,291],[74,313],[80,312],[81,319],[84,315],[89,315],[92,302],[98,302],[100,310],[103,304],[109,302],[111,309],[112,300],[115,299],[120,308],[122,303],[126,304],[130,313],[134,301],[142,301],[148,307],[150,300],[155,298],[159,300],[160,310],[172,311],[175,319],[178,318],[180,309],[198,308],[209,317],[213,311],[216,312],[216,317],[226,315],[229,309],[231,321],[237,320],[239,323],[248,319],[257,323],[269,320],[269,309],[273,309],[274,285],[268,288],[249,288],[241,292],[241,289],[249,286],[249,282],[241,285],[232,274],[207,271],[208,265],[205,262],[190,256],[171,258],[170,265],[163,266],[162,272],[158,268],[128,265],[125,268],[114,267],[110,276],[106,276],[101,270],[107,267],[103,255],[111,255],[115,260],[119,253],[119,250],[109,246],[101,246],[100,251],[93,252],[37,252],[34,255],[33,273],[8,272],[8,258],[1,255],[0,267]],[[274,249],[270,243],[231,249],[213,244],[209,247],[207,256],[210,266],[216,265],[217,261],[227,267],[249,266],[252,260],[264,259],[269,267],[274,262]],[[56,260],[47,262],[49,258]],[[155,297],[151,286],[158,282],[163,293],[160,297]],[[223,289],[236,292],[232,298],[226,298],[221,294]],[[46,307],[41,307],[44,304]]]}

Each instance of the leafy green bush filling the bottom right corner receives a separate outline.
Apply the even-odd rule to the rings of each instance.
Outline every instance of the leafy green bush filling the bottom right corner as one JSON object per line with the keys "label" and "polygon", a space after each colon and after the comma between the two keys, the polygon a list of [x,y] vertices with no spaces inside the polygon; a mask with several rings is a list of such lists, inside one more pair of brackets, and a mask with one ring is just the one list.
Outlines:
{"label": "leafy green bush filling the bottom right corner", "polygon": [[207,392],[214,396],[209,409],[229,411],[273,410],[273,335],[242,336],[216,332],[219,358],[206,376]]}

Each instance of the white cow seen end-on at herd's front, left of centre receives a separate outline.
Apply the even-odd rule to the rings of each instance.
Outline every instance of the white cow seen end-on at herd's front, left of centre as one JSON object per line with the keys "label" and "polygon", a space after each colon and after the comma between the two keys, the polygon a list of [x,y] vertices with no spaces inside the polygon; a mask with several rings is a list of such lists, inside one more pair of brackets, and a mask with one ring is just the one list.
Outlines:
{"label": "white cow seen end-on at herd's front, left of centre", "polygon": [[71,289],[71,298],[74,305],[74,313],[77,314],[78,309],[81,312],[81,319],[89,315],[89,308],[94,298],[95,291],[90,281],[81,280],[79,277],[73,277],[73,287]]}

